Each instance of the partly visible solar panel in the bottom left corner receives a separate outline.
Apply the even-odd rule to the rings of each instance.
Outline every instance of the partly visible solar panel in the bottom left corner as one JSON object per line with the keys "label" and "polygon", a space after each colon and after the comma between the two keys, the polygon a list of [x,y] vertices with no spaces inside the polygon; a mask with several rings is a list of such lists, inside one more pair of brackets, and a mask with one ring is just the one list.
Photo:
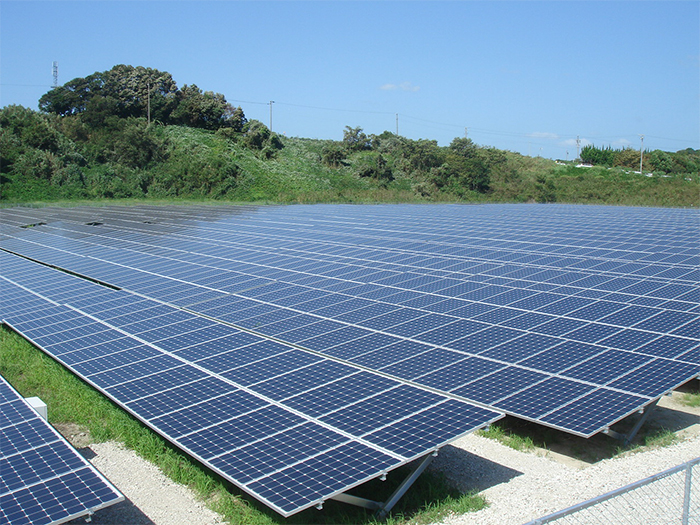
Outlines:
{"label": "partly visible solar panel in the bottom left corner", "polygon": [[0,377],[0,523],[65,523],[123,499]]}

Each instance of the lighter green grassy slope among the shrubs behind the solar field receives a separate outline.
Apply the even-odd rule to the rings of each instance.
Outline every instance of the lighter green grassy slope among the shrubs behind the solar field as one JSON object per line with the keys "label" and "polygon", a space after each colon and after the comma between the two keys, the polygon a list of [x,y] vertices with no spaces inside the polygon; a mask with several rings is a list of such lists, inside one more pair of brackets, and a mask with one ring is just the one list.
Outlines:
{"label": "lighter green grassy slope among the shrubs behind the solar field", "polygon": [[[505,162],[491,174],[486,194],[452,189],[425,191],[426,181],[394,170],[395,180],[382,183],[360,178],[354,167],[365,152],[350,155],[344,165],[331,168],[321,162],[328,141],[282,137],[285,147],[271,159],[239,143],[209,131],[166,126],[156,132],[169,144],[167,158],[138,171],[113,170],[115,176],[152,179],[149,193],[140,193],[128,180],[115,186],[116,196],[148,199],[227,200],[239,202],[566,202],[632,206],[682,206],[700,204],[700,177],[646,177],[620,169],[575,168],[556,165],[542,158],[506,153]],[[389,165],[400,164],[388,158]],[[92,166],[88,171],[104,171]],[[87,168],[86,168],[87,169]],[[105,168],[106,169],[106,168]],[[231,177],[218,174],[237,171]],[[88,177],[88,179],[90,179]],[[9,179],[3,183],[0,200],[41,202],[70,200],[79,195],[100,195],[105,179],[90,179],[81,192],[58,187],[45,179]],[[109,179],[107,179],[109,180]],[[97,182],[95,182],[97,181]],[[124,193],[120,188],[130,188]],[[175,189],[173,189],[175,188]],[[121,193],[120,193],[121,191]]]}

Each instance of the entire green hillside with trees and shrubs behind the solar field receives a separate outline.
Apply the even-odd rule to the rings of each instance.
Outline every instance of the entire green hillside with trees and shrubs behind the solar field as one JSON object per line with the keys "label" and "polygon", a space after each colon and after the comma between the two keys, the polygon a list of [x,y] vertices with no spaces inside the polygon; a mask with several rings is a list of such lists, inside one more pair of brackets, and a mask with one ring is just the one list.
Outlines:
{"label": "entire green hillside with trees and shrubs behind the solar field", "polygon": [[[441,147],[350,126],[338,141],[281,137],[248,120],[223,95],[195,85],[178,88],[169,73],[143,67],[120,65],[73,79],[42,96],[39,109],[0,109],[4,201],[698,201],[700,152],[694,150],[649,152],[659,173],[673,175],[641,177],[558,166],[467,138]],[[583,154],[604,166],[607,160],[593,159],[600,151],[608,150],[587,147]],[[612,165],[634,168],[620,160],[622,153],[618,157]]]}

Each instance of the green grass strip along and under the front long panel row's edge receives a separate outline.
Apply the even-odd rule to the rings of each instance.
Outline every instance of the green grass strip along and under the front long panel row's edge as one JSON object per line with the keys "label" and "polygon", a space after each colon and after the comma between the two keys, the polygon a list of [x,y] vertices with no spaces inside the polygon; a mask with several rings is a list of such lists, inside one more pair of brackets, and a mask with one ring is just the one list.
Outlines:
{"label": "green grass strip along and under the front long panel row's edge", "polygon": [[[442,476],[424,472],[384,520],[364,509],[327,501],[322,511],[308,509],[282,518],[235,486],[181,453],[158,434],[84,383],[19,335],[0,327],[0,374],[25,397],[38,396],[53,424],[74,423],[87,429],[93,442],[114,440],[158,466],[170,479],[191,488],[212,510],[235,525],[428,524],[451,514],[479,510],[483,497],[461,494]],[[372,480],[352,494],[384,501],[410,473],[409,466],[392,471],[387,480]]]}

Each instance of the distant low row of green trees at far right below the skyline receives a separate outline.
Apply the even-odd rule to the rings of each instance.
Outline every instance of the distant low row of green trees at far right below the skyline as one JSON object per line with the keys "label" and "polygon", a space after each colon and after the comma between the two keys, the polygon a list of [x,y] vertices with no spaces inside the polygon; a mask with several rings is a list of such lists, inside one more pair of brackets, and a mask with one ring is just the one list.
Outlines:
{"label": "distant low row of green trees at far right below the skyline", "polygon": [[658,175],[692,174],[700,171],[700,150],[692,148],[671,153],[661,150],[640,150],[633,148],[614,149],[611,146],[598,148],[593,145],[581,149],[581,161],[594,166],[622,167]]}

